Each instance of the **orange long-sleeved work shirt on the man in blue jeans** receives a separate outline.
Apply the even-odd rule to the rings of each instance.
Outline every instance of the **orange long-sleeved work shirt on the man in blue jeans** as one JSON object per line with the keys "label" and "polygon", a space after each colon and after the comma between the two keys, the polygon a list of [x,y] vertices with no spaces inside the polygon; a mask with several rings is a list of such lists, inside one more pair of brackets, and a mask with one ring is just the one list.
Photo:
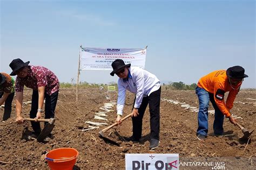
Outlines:
{"label": "orange long-sleeved work shirt on the man in blue jeans", "polygon": [[[237,84],[235,87],[232,86],[234,88],[233,89],[228,81],[226,70],[216,70],[204,77],[201,77],[197,86],[204,88],[206,91],[213,94],[215,103],[226,117],[231,115],[230,109],[233,107],[233,102],[238,94],[241,83]],[[224,94],[227,91],[230,91],[230,93],[228,94],[225,103]]]}

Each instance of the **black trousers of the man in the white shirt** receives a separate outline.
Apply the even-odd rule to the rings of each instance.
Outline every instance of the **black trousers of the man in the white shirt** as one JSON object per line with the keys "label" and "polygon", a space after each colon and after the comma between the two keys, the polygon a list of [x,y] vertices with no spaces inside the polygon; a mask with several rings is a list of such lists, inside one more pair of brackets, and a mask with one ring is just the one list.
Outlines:
{"label": "black trousers of the man in the white shirt", "polygon": [[[140,105],[137,117],[132,117],[132,132],[133,137],[139,140],[142,137],[142,122],[143,116],[149,104],[150,109],[150,138],[159,140],[159,130],[160,130],[160,95],[161,87],[151,93],[149,96],[143,97],[142,104]],[[136,97],[134,99],[135,103]],[[134,104],[133,104],[134,107]]]}

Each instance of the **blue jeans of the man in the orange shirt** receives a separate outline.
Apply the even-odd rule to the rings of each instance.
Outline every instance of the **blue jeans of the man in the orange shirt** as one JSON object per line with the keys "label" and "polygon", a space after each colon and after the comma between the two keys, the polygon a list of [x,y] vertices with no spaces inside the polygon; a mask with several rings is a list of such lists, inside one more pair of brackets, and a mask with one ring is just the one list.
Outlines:
{"label": "blue jeans of the man in the orange shirt", "polygon": [[199,111],[198,111],[198,129],[197,135],[202,134],[207,136],[208,133],[208,107],[209,102],[211,101],[214,113],[214,122],[213,122],[213,131],[215,135],[223,134],[223,122],[224,115],[218,108],[217,104],[214,101],[214,96],[212,93],[209,93],[203,88],[196,88],[196,94],[199,100]]}

